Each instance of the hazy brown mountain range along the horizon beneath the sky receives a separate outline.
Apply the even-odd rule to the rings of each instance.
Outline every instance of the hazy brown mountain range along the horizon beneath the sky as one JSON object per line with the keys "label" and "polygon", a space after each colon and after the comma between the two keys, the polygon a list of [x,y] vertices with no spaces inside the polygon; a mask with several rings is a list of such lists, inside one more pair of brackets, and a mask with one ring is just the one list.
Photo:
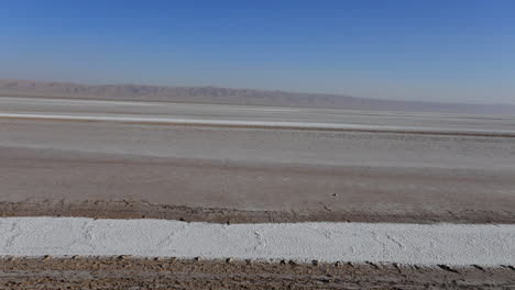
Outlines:
{"label": "hazy brown mountain range along the horizon beneath the sky", "polygon": [[298,93],[218,87],[90,86],[70,82],[0,80],[0,96],[515,115],[514,104],[379,100],[343,94]]}

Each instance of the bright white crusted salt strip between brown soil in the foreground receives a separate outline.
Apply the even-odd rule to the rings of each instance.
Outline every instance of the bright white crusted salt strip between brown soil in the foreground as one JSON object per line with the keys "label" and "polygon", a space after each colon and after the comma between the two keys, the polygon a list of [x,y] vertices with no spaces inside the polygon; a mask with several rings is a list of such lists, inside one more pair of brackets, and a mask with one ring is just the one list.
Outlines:
{"label": "bright white crusted salt strip between brown soil in the foreground", "polygon": [[209,224],[163,220],[1,217],[0,256],[202,257],[498,266],[515,225]]}

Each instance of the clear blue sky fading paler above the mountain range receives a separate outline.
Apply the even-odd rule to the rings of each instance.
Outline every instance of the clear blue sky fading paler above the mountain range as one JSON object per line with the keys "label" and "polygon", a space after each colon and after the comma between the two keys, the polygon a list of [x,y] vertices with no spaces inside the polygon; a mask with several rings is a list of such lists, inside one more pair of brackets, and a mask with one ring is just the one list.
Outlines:
{"label": "clear blue sky fading paler above the mountain range", "polygon": [[515,103],[515,1],[0,0],[0,78]]}

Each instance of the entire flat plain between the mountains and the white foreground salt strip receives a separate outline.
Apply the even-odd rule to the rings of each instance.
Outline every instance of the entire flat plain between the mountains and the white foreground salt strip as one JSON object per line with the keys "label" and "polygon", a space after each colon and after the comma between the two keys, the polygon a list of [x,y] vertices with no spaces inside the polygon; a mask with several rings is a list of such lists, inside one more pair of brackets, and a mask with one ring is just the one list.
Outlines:
{"label": "entire flat plain between the mountains and the white foreground salt strip", "polygon": [[0,119],[3,215],[232,223],[515,221],[515,138],[459,133],[505,132],[515,127],[513,118],[74,102],[2,98],[0,113],[226,115],[232,121],[266,115],[267,121],[419,132],[428,125],[458,133]]}

